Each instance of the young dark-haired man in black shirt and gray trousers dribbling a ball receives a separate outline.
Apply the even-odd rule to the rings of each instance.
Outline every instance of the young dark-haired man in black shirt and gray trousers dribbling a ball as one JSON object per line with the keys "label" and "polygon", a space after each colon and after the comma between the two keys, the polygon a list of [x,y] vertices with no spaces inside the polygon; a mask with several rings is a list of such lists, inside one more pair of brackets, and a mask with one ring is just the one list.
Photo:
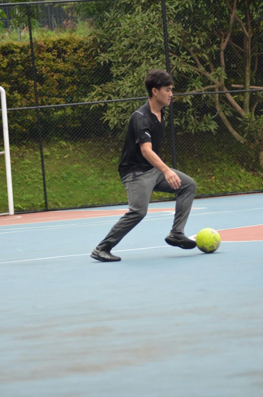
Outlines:
{"label": "young dark-haired man in black shirt and gray trousers dribbling a ball", "polygon": [[166,243],[184,249],[196,246],[184,234],[196,184],[183,172],[169,168],[158,156],[165,129],[162,108],[170,104],[173,80],[164,70],[151,70],[145,77],[145,86],[149,99],[129,119],[118,168],[129,211],[93,250],[91,257],[100,261],[121,260],[110,251],[144,218],[153,190],[177,194],[174,222]]}

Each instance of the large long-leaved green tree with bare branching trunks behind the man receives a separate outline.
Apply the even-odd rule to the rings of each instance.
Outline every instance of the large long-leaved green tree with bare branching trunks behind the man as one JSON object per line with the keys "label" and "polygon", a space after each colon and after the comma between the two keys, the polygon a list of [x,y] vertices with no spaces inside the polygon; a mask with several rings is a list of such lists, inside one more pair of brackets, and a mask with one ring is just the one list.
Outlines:
{"label": "large long-leaved green tree with bare branching trunks behind the man", "polygon": [[[261,168],[262,94],[227,91],[263,86],[259,67],[263,63],[262,12],[260,0],[166,0],[170,68],[176,91],[214,92],[198,99],[190,94],[174,97],[174,101],[189,105],[182,105],[177,113],[177,129],[214,133],[219,117],[229,133],[249,148]],[[144,96],[142,80],[147,71],[165,68],[161,2],[119,0],[104,16],[96,31],[95,52],[97,62],[110,65],[111,79],[95,86],[89,100]],[[226,94],[217,94],[221,91]],[[120,122],[120,110],[121,122],[126,124],[129,102],[111,103],[104,112],[111,127]]]}

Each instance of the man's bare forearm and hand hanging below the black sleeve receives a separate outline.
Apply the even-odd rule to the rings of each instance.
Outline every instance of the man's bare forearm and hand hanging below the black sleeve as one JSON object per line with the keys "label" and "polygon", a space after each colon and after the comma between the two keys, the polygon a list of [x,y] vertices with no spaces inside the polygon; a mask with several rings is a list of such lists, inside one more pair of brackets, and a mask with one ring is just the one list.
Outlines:
{"label": "man's bare forearm and hand hanging below the black sleeve", "polygon": [[146,158],[146,160],[164,174],[164,177],[170,187],[173,189],[178,189],[181,185],[180,178],[174,171],[164,164],[160,157],[152,150],[151,142],[140,143],[140,148],[142,155]]}

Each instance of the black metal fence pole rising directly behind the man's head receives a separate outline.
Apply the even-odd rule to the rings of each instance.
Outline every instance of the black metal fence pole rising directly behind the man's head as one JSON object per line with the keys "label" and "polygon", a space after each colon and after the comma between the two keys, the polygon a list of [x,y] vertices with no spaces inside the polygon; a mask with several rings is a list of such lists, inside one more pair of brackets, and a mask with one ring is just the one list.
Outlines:
{"label": "black metal fence pole rising directly behind the man's head", "polygon": [[[166,18],[166,6],[165,0],[162,0],[162,26],[163,26],[163,38],[164,38],[164,51],[165,51],[165,64],[166,71],[170,73],[170,60],[169,60],[169,42],[168,42],[168,32],[167,32],[167,18]],[[176,143],[174,137],[176,135],[174,124],[173,124],[173,104],[172,101],[169,106],[169,126],[171,130],[171,148],[172,148],[172,166],[177,169],[177,159],[176,159]]]}

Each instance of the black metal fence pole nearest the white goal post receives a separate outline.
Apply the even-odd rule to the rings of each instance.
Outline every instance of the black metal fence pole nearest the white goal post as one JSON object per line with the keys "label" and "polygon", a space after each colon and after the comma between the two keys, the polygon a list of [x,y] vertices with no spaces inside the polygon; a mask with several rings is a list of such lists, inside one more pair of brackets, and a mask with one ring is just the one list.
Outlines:
{"label": "black metal fence pole nearest the white goal post", "polygon": [[40,124],[40,115],[39,115],[39,107],[38,107],[38,93],[37,93],[37,86],[36,86],[36,68],[35,68],[35,56],[34,56],[33,38],[32,38],[32,26],[31,26],[31,19],[30,19],[30,6],[27,4],[26,7],[27,7],[27,18],[28,18],[28,30],[29,30],[29,37],[30,37],[32,69],[33,69],[33,77],[34,77],[35,104],[36,104],[36,116],[37,116],[38,136],[39,136],[39,149],[40,149],[41,168],[42,168],[43,191],[44,191],[44,197],[45,197],[45,209],[46,209],[46,211],[48,211],[49,207],[48,207],[47,185],[46,185],[46,176],[45,176],[45,164],[44,164],[42,136],[41,136],[41,124]]}

